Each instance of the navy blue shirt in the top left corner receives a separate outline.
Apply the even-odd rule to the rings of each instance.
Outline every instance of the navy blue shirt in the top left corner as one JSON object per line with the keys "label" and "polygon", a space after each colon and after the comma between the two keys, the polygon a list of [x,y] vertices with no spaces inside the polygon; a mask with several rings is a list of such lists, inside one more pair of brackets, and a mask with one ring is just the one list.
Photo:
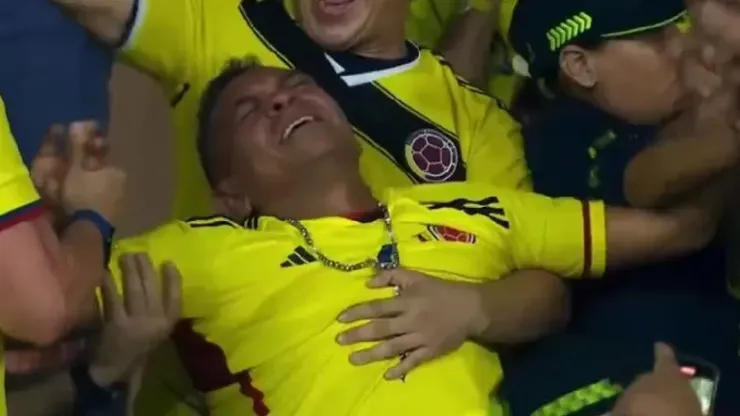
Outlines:
{"label": "navy blue shirt in the top left corner", "polygon": [[0,0],[0,95],[23,159],[53,123],[108,120],[113,52],[50,0]]}

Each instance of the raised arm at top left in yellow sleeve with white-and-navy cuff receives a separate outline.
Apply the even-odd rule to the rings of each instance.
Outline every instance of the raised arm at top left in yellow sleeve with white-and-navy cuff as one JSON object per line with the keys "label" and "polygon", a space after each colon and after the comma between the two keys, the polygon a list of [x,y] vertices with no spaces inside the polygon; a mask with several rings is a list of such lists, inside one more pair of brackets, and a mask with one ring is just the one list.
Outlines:
{"label": "raised arm at top left in yellow sleeve with white-and-navy cuff", "polygon": [[163,82],[171,96],[202,59],[203,0],[53,1],[118,48],[124,61]]}

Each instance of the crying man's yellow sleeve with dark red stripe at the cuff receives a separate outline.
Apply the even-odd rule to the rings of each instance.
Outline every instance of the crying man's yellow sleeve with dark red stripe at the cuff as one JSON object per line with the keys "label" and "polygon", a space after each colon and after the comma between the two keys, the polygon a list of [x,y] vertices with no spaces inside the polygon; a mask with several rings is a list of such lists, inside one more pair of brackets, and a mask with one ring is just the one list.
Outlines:
{"label": "crying man's yellow sleeve with dark red stripe at the cuff", "polygon": [[543,268],[563,277],[601,275],[606,268],[606,220],[601,202],[502,193],[516,268]]}

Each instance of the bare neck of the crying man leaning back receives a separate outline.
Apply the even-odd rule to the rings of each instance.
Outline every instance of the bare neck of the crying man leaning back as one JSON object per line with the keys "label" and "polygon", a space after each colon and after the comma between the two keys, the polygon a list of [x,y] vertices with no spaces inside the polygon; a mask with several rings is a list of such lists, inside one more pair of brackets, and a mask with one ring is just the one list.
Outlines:
{"label": "bare neck of the crying man leaning back", "polygon": [[339,164],[322,162],[321,168],[303,174],[279,196],[261,204],[265,215],[296,220],[338,217],[348,213],[371,211],[378,206],[356,164],[354,170]]}

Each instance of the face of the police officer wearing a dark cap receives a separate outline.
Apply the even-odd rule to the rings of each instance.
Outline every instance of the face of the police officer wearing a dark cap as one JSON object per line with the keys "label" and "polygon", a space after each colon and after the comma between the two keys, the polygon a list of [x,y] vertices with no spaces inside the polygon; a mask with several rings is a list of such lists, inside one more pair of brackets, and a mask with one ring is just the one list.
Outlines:
{"label": "face of the police officer wearing a dark cap", "polygon": [[686,105],[680,77],[682,35],[672,26],[610,40],[592,54],[596,102],[637,124],[655,124]]}

